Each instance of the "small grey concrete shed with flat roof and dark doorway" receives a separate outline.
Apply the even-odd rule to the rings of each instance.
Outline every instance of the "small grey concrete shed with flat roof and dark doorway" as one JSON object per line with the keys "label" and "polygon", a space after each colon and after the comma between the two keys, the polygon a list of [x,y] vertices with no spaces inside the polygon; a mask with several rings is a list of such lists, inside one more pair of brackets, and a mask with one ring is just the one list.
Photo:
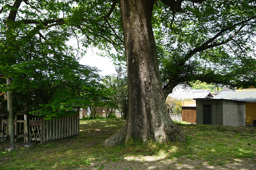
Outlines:
{"label": "small grey concrete shed with flat roof and dark doorway", "polygon": [[197,124],[246,126],[246,102],[227,99],[196,99]]}

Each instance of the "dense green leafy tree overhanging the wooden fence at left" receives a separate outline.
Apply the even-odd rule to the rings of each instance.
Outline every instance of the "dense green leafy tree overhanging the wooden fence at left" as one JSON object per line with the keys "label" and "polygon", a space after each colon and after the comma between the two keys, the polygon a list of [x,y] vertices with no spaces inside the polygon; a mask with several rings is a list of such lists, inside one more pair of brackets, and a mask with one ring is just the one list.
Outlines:
{"label": "dense green leafy tree overhanging the wooden fence at left", "polygon": [[73,114],[74,106],[109,102],[98,69],[80,65],[67,44],[76,37],[63,18],[70,10],[68,2],[1,1],[0,72],[13,82],[0,90],[14,92],[16,110],[26,102],[52,119]]}

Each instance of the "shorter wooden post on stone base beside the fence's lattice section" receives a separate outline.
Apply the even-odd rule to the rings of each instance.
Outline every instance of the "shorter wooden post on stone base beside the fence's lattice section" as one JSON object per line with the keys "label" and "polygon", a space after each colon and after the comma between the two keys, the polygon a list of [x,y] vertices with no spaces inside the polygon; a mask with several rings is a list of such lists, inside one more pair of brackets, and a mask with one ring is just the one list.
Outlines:
{"label": "shorter wooden post on stone base beside the fence's lattice section", "polygon": [[26,111],[24,114],[24,133],[25,135],[25,146],[24,147],[32,147],[30,142],[30,123],[29,123],[29,106],[27,103],[24,104],[24,110]]}

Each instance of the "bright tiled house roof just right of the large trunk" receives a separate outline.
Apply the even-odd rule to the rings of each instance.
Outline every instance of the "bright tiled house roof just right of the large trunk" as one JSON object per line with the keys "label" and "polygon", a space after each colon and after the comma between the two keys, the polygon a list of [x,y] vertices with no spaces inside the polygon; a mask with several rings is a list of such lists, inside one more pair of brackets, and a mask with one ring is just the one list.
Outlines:
{"label": "bright tiled house roof just right of the large trunk", "polygon": [[210,90],[194,90],[191,87],[183,88],[182,86],[176,86],[173,92],[169,94],[172,98],[176,99],[193,99],[193,98],[212,98]]}

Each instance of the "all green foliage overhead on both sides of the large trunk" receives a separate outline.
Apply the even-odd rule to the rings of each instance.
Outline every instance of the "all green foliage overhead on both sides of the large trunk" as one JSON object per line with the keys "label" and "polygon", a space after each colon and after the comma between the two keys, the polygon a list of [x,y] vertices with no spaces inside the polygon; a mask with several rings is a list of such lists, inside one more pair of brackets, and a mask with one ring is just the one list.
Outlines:
{"label": "all green foliage overhead on both sides of the large trunk", "polygon": [[[78,65],[73,48],[67,45],[70,38],[79,45],[106,50],[106,55],[124,62],[118,3],[2,0],[0,70],[16,77],[12,89],[32,94],[32,88],[43,89],[47,84],[55,91],[59,84],[69,84],[68,79],[78,89],[95,83],[96,70]],[[255,9],[253,0],[155,1],[152,28],[165,96],[176,85],[196,80],[232,87],[256,86]],[[112,48],[117,53],[111,52]],[[78,79],[82,82],[79,85]],[[88,79],[91,83],[85,82]],[[49,88],[45,93],[49,97]]]}

